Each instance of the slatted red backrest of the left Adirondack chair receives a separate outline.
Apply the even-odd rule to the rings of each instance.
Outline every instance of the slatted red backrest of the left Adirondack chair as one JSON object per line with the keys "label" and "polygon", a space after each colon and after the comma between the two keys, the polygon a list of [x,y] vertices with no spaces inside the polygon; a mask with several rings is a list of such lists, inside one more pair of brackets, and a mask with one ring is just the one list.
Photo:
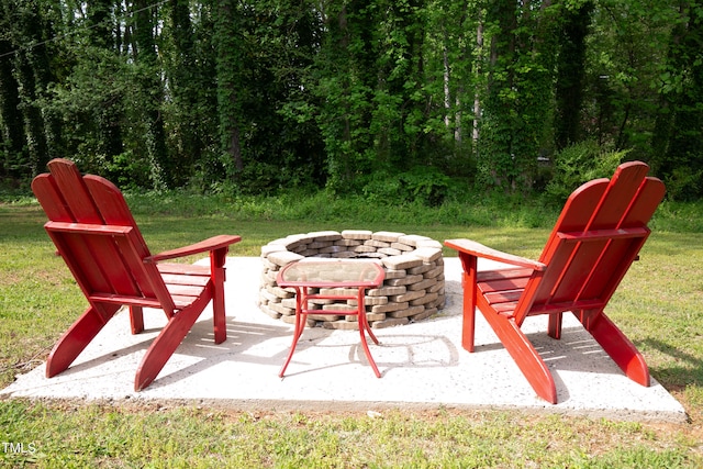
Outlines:
{"label": "slatted red backrest of the left Adirondack chair", "polygon": [[45,224],[86,298],[100,303],[146,305],[174,314],[174,301],[122,192],[99,176],[81,177],[67,159],[48,164],[32,181]]}

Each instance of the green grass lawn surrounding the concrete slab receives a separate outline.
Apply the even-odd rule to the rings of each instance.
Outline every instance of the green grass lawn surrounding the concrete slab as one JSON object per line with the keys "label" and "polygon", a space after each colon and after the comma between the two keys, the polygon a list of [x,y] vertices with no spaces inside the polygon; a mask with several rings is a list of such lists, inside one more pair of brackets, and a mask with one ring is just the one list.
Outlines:
{"label": "green grass lawn surrounding the concrete slab", "polygon": [[[243,236],[236,256],[258,256],[261,245],[292,233],[365,228],[471,237],[536,258],[557,216],[510,200],[392,210],[324,194],[140,194],[129,202],[154,253],[230,233]],[[0,387],[42,364],[86,308],[44,221],[31,200],[0,203]],[[651,226],[609,315],[683,403],[688,424],[446,409],[367,415],[4,400],[0,467],[703,467],[703,205],[665,203]]]}

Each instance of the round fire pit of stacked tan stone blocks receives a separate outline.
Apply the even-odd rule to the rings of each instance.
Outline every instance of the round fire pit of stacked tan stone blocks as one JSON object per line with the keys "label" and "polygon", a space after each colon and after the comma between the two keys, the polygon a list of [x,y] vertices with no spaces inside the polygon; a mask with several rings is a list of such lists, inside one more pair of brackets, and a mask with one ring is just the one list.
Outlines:
{"label": "round fire pit of stacked tan stone blocks", "polygon": [[[386,271],[380,288],[367,291],[366,315],[373,328],[421,321],[444,308],[444,258],[442,244],[427,236],[404,233],[346,230],[294,234],[261,247],[259,309],[274,319],[293,323],[294,290],[276,283],[278,271],[304,257],[378,259]],[[310,315],[314,324],[327,328],[358,330],[356,301],[314,300],[320,310],[338,315]]]}

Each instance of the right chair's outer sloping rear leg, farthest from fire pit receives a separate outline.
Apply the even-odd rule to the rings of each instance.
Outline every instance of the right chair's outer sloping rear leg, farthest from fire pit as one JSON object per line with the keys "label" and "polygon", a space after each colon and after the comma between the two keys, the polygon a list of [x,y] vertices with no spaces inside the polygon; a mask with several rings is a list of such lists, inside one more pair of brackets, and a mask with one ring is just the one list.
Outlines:
{"label": "right chair's outer sloping rear leg, farthest from fire pit", "polygon": [[577,316],[629,379],[649,387],[649,368],[645,358],[610,317],[602,312],[585,312]]}

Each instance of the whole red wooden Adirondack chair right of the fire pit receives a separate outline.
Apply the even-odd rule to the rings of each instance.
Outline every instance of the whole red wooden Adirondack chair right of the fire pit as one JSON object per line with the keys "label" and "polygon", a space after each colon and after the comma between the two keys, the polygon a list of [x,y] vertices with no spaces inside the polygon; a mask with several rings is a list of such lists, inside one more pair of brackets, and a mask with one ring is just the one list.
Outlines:
{"label": "whole red wooden Adirondack chair right of the fire pit", "polygon": [[[571,312],[632,380],[649,386],[644,358],[603,313],[649,235],[647,223],[665,194],[640,161],[621,165],[612,179],[577,189],[566,202],[538,261],[501,253],[469,239],[447,239],[464,268],[461,343],[473,351],[476,306],[537,394],[556,404],[554,378],[521,326],[527,316],[549,315],[548,334],[559,338]],[[507,269],[477,271],[477,259]]]}

